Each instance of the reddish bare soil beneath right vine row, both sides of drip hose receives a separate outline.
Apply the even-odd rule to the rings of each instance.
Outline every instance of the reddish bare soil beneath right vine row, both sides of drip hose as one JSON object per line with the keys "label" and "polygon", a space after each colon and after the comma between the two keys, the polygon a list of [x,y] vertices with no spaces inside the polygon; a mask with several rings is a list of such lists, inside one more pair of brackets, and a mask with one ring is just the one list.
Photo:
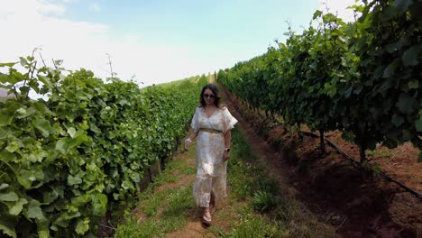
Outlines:
{"label": "reddish bare soil beneath right vine row, both sides of drip hose", "polygon": [[[318,139],[288,133],[270,120],[253,113],[235,96],[226,95],[227,106],[251,142],[251,147],[267,147],[260,151],[272,153],[269,165],[279,169],[280,179],[286,180],[299,200],[318,218],[337,227],[341,237],[422,237],[422,200],[385,178],[362,173],[349,165],[344,156],[330,147],[326,154],[318,150]],[[242,112],[242,115],[238,114]],[[257,135],[261,135],[261,142]],[[263,138],[262,138],[263,137]],[[341,139],[341,133],[327,133],[353,158],[358,148]],[[265,143],[265,142],[264,142]],[[395,150],[379,147],[372,159],[391,177],[421,191],[422,164],[417,163],[417,150],[404,144]],[[388,159],[386,159],[388,158]]]}

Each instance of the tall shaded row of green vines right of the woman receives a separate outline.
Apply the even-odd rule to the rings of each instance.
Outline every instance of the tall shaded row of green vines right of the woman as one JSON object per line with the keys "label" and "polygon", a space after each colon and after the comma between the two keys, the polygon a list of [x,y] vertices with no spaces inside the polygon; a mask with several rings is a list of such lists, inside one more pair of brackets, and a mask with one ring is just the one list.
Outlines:
{"label": "tall shaded row of green vines right of the woman", "polygon": [[324,133],[344,132],[359,145],[362,165],[377,143],[422,149],[422,2],[350,8],[354,23],[316,11],[306,30],[289,29],[285,43],[220,70],[218,80],[253,108],[319,131],[323,151]]}

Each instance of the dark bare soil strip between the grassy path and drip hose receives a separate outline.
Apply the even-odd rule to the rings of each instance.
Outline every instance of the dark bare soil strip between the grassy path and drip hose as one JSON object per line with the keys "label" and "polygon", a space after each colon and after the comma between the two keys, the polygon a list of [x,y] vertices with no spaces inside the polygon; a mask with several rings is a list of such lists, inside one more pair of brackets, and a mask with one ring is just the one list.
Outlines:
{"label": "dark bare soil strip between the grassy path and drip hose", "polygon": [[[264,119],[223,91],[252,151],[263,155],[280,183],[289,184],[296,197],[320,221],[334,225],[341,237],[422,237],[422,202],[417,197],[384,178],[362,178],[361,171],[332,148],[321,156],[317,139],[281,140],[286,132],[269,129]],[[267,141],[254,130],[264,132]]]}

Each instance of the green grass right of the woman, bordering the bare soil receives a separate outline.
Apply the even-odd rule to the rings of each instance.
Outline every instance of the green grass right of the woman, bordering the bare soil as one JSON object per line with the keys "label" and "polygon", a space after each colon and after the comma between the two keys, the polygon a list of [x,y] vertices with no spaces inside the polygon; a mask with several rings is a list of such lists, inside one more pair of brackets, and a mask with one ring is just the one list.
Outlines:
{"label": "green grass right of the woman, bordering the bare soil", "polygon": [[[230,197],[246,201],[232,225],[232,232],[219,232],[223,237],[315,237],[332,236],[330,228],[320,224],[307,213],[294,197],[280,188],[268,170],[252,155],[243,135],[234,129],[232,133],[234,152],[229,162],[228,184]],[[257,211],[258,213],[255,213]]]}

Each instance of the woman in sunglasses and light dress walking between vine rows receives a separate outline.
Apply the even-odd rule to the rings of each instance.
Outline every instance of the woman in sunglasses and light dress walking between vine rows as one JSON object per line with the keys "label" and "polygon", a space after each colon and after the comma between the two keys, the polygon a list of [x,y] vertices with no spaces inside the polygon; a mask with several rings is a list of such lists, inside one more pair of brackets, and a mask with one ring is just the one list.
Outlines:
{"label": "woman in sunglasses and light dress walking between vine rows", "polygon": [[209,225],[211,211],[216,208],[216,198],[227,196],[226,169],[232,139],[230,130],[237,120],[220,104],[218,89],[214,84],[202,88],[199,102],[190,135],[185,140],[185,150],[197,137],[197,179],[193,195],[197,206],[203,208],[202,222]]}

